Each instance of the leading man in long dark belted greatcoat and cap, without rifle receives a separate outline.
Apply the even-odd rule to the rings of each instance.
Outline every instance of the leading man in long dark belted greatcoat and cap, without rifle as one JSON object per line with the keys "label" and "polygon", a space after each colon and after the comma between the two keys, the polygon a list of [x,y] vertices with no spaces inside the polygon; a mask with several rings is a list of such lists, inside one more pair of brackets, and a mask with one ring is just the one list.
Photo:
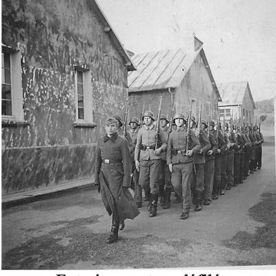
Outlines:
{"label": "leading man in long dark belted greatcoat and cap, without rifle", "polygon": [[128,191],[132,176],[132,160],[126,139],[117,134],[117,120],[108,118],[106,135],[99,139],[96,148],[95,184],[101,191],[101,199],[109,215],[112,228],[106,242],[118,238],[119,221],[134,219],[139,210]]}

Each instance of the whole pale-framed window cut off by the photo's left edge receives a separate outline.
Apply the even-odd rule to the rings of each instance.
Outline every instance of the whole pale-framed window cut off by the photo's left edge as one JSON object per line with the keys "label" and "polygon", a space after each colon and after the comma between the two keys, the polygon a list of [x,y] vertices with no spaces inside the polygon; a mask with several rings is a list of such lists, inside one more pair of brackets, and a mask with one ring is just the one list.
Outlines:
{"label": "whole pale-framed window cut off by the photo's left edge", "polygon": [[23,121],[21,52],[2,46],[2,121]]}

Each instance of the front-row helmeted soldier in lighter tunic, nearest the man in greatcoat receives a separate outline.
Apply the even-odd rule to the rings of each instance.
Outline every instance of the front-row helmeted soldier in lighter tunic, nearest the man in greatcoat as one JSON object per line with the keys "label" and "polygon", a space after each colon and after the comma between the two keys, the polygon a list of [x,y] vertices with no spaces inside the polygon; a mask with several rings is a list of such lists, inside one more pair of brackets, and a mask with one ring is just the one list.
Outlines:
{"label": "front-row helmeted soldier in lighter tunic, nearest the man in greatcoat", "polygon": [[155,117],[150,110],[144,112],[145,126],[140,128],[135,147],[135,166],[140,171],[139,184],[144,188],[145,195],[150,196],[150,217],[157,215],[159,195],[159,175],[161,169],[161,152],[166,150],[166,135],[160,131],[161,146],[155,150],[157,126],[153,124]]}

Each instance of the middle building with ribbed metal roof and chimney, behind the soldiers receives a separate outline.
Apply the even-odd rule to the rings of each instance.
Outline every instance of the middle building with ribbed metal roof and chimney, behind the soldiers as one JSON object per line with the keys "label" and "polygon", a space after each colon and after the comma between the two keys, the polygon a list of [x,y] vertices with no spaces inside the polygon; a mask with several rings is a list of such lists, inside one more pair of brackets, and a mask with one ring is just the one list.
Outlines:
{"label": "middle building with ribbed metal roof and chimney, behind the soldiers", "polygon": [[195,49],[186,51],[161,50],[135,55],[132,61],[137,70],[128,74],[130,110],[139,116],[145,103],[157,115],[159,97],[162,96],[162,113],[170,115],[175,102],[175,112],[185,115],[192,104],[197,117],[201,99],[201,115],[216,117],[219,90],[206,59],[203,43],[194,37]]}

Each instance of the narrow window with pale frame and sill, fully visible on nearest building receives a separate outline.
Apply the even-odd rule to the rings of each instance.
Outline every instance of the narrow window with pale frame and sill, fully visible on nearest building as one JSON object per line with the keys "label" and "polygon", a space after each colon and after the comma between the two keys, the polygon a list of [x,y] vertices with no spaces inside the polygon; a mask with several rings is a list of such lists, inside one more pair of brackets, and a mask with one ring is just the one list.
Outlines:
{"label": "narrow window with pale frame and sill, fully visible on nearest building", "polygon": [[74,126],[92,127],[93,98],[90,70],[75,66],[76,121]]}

